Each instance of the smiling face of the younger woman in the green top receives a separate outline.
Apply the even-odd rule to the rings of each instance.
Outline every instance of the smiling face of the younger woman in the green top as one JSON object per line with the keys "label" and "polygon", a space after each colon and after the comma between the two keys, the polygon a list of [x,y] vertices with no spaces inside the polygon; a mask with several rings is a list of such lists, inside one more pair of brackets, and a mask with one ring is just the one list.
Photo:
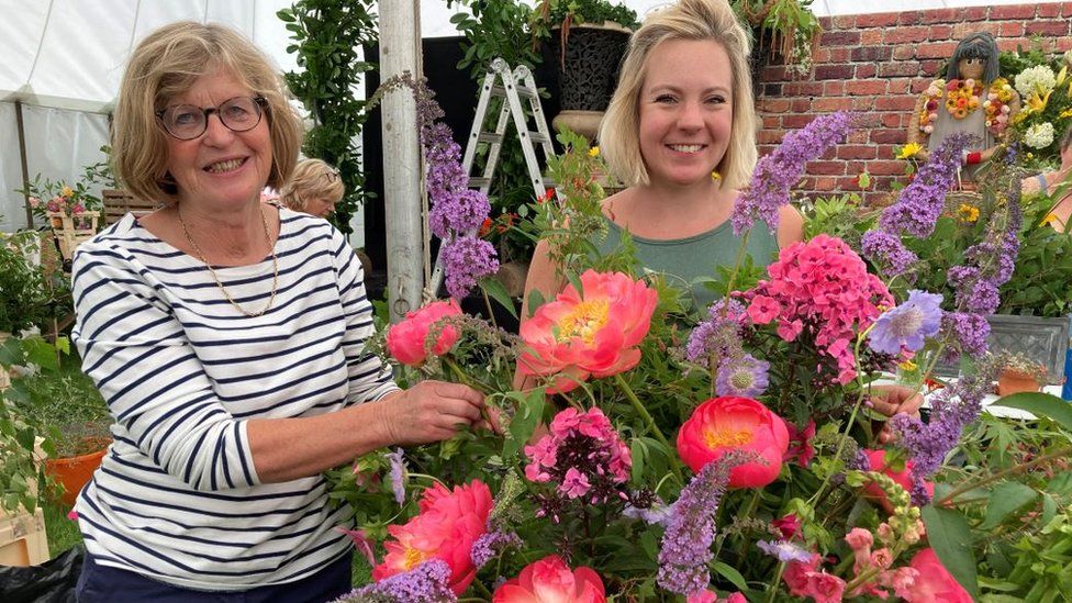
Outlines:
{"label": "smiling face of the younger woman in the green top", "polygon": [[640,88],[640,154],[652,185],[710,182],[729,146],[733,72],[711,40],[668,40],[648,57]]}

